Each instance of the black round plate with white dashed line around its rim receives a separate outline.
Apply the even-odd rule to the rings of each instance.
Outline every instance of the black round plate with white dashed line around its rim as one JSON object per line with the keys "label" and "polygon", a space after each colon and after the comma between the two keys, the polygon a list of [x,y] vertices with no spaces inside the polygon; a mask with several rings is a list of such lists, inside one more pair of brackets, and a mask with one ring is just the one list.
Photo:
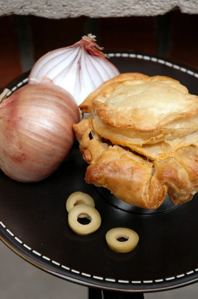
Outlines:
{"label": "black round plate with white dashed line around its rim", "polygon": [[[170,76],[198,94],[198,74],[192,68],[141,54],[109,56],[120,72]],[[26,76],[8,87],[20,88],[27,83]],[[0,172],[1,240],[33,265],[85,286],[149,292],[196,282],[197,195],[158,213],[119,208],[109,202],[108,192],[85,183],[86,167],[76,142],[67,161],[39,183],[19,183]],[[79,236],[69,228],[65,204],[75,191],[89,193],[101,215],[101,227],[92,235]],[[108,248],[105,234],[114,227],[137,231],[140,241],[134,251],[118,254]]]}

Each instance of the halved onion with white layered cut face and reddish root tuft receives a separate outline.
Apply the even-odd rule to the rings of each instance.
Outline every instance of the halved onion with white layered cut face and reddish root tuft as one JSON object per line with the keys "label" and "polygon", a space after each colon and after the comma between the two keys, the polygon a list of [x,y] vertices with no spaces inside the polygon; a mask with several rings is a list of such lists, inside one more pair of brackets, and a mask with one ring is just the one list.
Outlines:
{"label": "halved onion with white layered cut face and reddish root tuft", "polygon": [[104,81],[120,74],[101,49],[95,36],[88,34],[72,46],[51,51],[35,63],[29,83],[39,83],[47,77],[69,91],[80,105]]}

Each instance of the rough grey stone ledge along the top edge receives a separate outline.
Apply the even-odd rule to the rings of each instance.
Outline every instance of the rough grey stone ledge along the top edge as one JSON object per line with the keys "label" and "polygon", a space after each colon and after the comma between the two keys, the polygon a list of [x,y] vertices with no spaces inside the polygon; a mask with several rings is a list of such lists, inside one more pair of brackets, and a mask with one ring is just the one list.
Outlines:
{"label": "rough grey stone ledge along the top edge", "polygon": [[51,19],[89,16],[157,16],[178,8],[197,14],[197,0],[1,0],[0,16],[35,15]]}

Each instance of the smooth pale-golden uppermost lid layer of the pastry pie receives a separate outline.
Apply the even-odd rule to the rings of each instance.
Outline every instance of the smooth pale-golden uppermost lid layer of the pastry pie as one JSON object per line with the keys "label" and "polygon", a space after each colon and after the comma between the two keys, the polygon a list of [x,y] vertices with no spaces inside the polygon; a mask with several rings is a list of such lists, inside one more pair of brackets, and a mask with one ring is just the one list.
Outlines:
{"label": "smooth pale-golden uppermost lid layer of the pastry pie", "polygon": [[[120,74],[103,83],[81,105],[96,111],[106,125],[154,130],[178,118],[197,114],[198,97],[179,81],[164,76]],[[89,111],[90,112],[90,111]]]}

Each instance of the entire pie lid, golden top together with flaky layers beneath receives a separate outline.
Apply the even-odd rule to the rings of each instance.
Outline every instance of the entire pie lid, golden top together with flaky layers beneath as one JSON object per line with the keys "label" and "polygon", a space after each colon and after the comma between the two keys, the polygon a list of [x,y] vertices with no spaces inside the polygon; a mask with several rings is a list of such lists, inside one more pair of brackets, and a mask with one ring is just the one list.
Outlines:
{"label": "entire pie lid, golden top together with flaky layers beneath", "polygon": [[169,77],[120,74],[80,108],[91,113],[98,135],[152,160],[198,143],[198,97]]}

